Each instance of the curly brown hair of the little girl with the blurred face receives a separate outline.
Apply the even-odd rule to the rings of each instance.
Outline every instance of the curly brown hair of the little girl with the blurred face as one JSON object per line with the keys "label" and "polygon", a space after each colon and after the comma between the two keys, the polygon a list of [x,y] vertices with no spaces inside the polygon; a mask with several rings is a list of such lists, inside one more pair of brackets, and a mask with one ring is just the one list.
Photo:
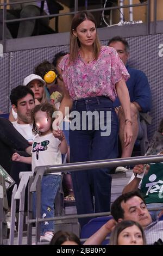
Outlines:
{"label": "curly brown hair of the little girl with the blurred face", "polygon": [[[34,109],[32,110],[32,123],[33,123],[32,131],[33,131],[34,135],[36,135],[36,134],[40,135],[40,131],[37,130],[37,127],[36,127],[36,124],[35,124],[35,114],[38,111],[46,112],[47,116],[52,118],[52,124],[53,124],[53,121],[54,121],[53,113],[55,111],[57,111],[57,109],[53,105],[51,105],[50,103],[43,103],[43,104],[40,104],[40,105],[36,105],[34,107]],[[53,129],[52,126],[51,126],[51,129]]]}

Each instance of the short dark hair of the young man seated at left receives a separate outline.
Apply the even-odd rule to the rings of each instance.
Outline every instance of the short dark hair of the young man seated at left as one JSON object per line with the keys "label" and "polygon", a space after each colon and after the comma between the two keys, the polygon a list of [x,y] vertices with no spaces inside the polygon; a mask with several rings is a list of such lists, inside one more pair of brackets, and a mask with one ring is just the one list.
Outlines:
{"label": "short dark hair of the young man seated at left", "polygon": [[17,101],[26,97],[27,94],[31,94],[33,100],[35,100],[33,91],[27,86],[17,86],[12,89],[10,94],[11,105],[15,105],[17,107]]}

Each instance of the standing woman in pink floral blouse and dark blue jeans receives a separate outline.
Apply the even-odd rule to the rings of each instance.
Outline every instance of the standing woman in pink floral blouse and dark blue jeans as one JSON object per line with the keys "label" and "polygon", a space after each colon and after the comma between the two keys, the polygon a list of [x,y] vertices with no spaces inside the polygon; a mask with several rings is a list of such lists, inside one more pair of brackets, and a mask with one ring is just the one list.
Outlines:
{"label": "standing woman in pink floral blouse and dark blue jeans", "polygon": [[[125,83],[129,74],[114,48],[100,45],[92,14],[83,11],[74,16],[70,54],[62,58],[59,67],[66,87],[59,110],[65,114],[65,106],[69,106],[80,115],[76,129],[75,120],[70,125],[71,162],[116,158],[118,120],[112,102],[117,95],[126,117],[126,145],[133,136]],[[95,113],[95,118],[90,115],[84,118],[85,113]],[[57,123],[56,119],[53,123],[55,130]],[[73,172],[72,179],[78,214],[110,211],[111,176],[108,168]],[[89,219],[79,221],[84,225]]]}

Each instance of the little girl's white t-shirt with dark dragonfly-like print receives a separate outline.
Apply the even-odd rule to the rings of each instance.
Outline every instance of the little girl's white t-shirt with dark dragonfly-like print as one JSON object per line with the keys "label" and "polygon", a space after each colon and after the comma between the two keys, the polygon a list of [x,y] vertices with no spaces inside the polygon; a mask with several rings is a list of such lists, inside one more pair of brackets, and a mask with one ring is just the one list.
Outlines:
{"label": "little girl's white t-shirt with dark dragonfly-like print", "polygon": [[[36,166],[57,165],[62,163],[59,149],[60,140],[55,138],[53,133],[45,136],[37,135],[32,145],[32,171]],[[49,173],[48,173],[49,174]],[[52,173],[61,175],[60,173]]]}

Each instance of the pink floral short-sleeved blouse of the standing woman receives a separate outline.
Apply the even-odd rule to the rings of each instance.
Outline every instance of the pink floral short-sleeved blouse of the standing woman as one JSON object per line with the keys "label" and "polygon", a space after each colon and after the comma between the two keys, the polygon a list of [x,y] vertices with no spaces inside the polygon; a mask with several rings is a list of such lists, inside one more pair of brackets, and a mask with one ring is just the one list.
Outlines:
{"label": "pink floral short-sleeved blouse of the standing woman", "polygon": [[69,54],[66,54],[59,66],[62,77],[72,100],[85,97],[108,96],[115,100],[115,84],[126,81],[130,76],[116,50],[112,47],[102,46],[98,59],[86,63],[79,56],[75,62],[68,65]]}

